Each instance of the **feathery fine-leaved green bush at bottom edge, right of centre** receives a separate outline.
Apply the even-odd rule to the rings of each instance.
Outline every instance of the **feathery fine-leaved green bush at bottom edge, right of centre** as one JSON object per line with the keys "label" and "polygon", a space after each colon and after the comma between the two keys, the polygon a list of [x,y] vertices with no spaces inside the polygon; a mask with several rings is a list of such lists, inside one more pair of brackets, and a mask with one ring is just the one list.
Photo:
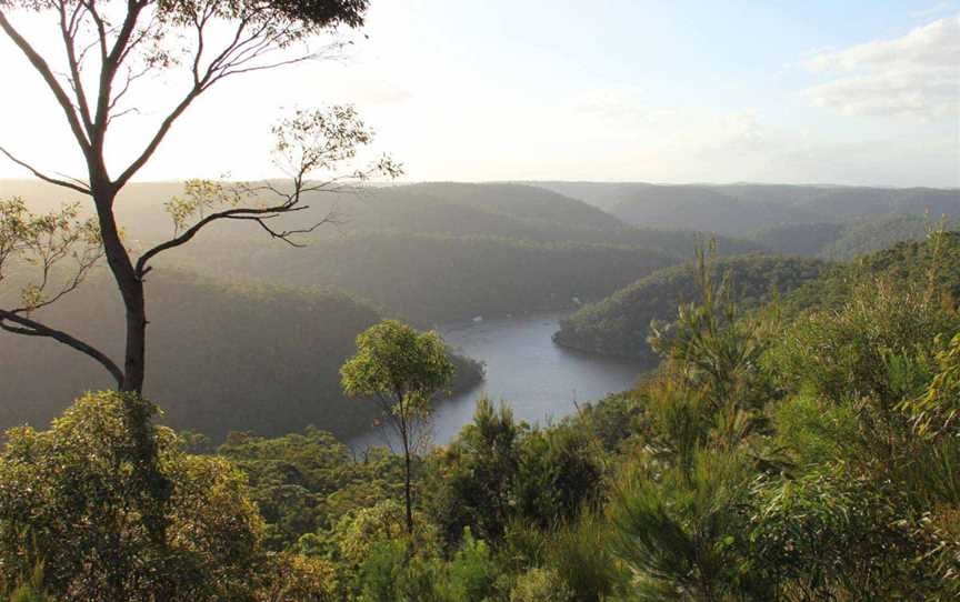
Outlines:
{"label": "feathery fine-leaved green bush at bottom edge, right of centre", "polygon": [[610,508],[611,543],[637,575],[640,600],[680,591],[723,600],[751,589],[742,551],[752,479],[741,453],[716,450],[694,451],[689,466],[651,461],[624,473]]}

